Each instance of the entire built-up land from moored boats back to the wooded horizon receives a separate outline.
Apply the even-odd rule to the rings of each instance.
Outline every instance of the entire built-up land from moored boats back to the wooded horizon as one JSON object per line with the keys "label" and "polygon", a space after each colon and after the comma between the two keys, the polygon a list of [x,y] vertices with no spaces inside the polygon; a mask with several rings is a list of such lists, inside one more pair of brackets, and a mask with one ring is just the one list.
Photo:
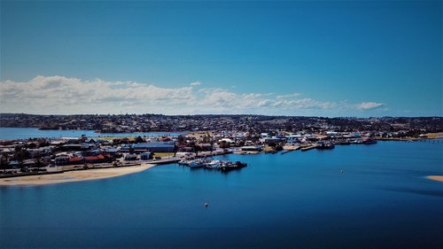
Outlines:
{"label": "entire built-up land from moored boats back to the wooded horizon", "polygon": [[429,141],[441,138],[443,131],[440,117],[356,119],[257,115],[2,114],[0,120],[2,127],[98,128],[97,132],[116,134],[163,130],[177,134],[0,140],[0,177],[3,178],[172,162],[191,168],[229,171],[245,167],[245,164],[208,158],[227,153],[284,154],[296,150],[330,150],[336,145],[377,144],[378,140]]}

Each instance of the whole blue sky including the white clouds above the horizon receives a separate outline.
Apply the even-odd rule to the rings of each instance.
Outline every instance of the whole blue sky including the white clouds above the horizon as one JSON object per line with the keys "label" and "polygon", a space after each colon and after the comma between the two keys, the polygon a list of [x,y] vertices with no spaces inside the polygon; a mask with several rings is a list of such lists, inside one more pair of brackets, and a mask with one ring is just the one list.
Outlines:
{"label": "whole blue sky including the white clouds above the horizon", "polygon": [[2,113],[443,114],[442,2],[1,2]]}

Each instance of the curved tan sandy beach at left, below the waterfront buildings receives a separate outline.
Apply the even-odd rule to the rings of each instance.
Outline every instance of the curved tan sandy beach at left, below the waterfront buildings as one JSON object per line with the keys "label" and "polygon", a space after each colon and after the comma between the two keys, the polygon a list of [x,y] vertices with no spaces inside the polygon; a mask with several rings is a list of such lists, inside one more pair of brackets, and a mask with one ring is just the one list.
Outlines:
{"label": "curved tan sandy beach at left, below the waterfront buildings", "polygon": [[64,172],[62,174],[54,174],[54,175],[31,175],[31,176],[4,178],[0,179],[0,186],[43,185],[43,184],[70,183],[70,182],[97,180],[97,179],[116,177],[120,175],[134,174],[154,166],[155,166],[154,164],[143,164],[131,167],[114,167],[114,168],[69,171],[69,172]]}

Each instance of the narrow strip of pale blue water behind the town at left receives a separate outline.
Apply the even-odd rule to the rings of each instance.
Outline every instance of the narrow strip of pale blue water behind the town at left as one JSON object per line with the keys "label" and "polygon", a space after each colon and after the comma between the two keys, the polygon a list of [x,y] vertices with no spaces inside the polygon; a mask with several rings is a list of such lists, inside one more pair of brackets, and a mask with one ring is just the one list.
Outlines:
{"label": "narrow strip of pale blue water behind the town at left", "polygon": [[86,136],[164,136],[180,135],[175,132],[135,132],[135,133],[97,133],[94,130],[58,129],[40,130],[38,128],[0,128],[0,139],[27,139],[35,137],[79,137]]}

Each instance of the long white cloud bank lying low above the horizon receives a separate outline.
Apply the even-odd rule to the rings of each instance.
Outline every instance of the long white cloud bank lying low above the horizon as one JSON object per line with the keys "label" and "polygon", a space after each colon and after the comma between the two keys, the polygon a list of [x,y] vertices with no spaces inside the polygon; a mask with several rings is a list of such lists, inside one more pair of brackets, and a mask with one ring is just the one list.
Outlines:
{"label": "long white cloud bank lying low above the horizon", "polygon": [[[196,89],[198,87],[199,89]],[[82,81],[36,76],[28,82],[0,82],[1,113],[255,113],[269,115],[354,115],[383,110],[376,102],[328,102],[300,93],[237,93],[201,89],[200,82],[162,88],[139,82]]]}

